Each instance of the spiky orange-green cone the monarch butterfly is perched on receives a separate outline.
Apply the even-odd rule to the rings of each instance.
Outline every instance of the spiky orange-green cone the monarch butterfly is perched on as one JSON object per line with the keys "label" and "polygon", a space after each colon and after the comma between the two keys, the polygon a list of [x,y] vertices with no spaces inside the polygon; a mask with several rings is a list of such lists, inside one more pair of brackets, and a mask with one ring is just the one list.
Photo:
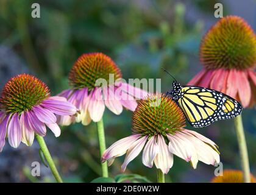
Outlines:
{"label": "spiky orange-green cone the monarch butterfly is perched on", "polygon": [[182,110],[165,94],[152,94],[141,100],[133,112],[132,131],[143,135],[166,136],[185,127]]}

